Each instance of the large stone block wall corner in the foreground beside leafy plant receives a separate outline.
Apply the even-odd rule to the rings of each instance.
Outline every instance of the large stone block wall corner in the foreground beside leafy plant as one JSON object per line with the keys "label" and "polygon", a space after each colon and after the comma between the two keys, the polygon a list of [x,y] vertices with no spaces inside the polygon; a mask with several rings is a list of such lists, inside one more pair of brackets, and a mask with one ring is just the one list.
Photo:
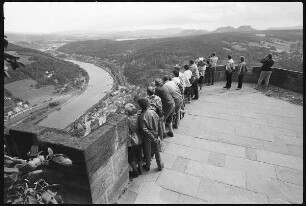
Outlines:
{"label": "large stone block wall corner in the foreground beside leafy plant", "polygon": [[45,169],[46,180],[61,185],[65,203],[103,204],[116,202],[127,187],[127,132],[126,117],[116,115],[86,137],[75,138],[59,130],[21,124],[10,129],[6,138],[15,145],[12,148],[17,151],[13,152],[23,158],[32,143],[38,143],[43,154],[50,147],[55,154],[65,154],[72,160],[72,167],[53,164]]}

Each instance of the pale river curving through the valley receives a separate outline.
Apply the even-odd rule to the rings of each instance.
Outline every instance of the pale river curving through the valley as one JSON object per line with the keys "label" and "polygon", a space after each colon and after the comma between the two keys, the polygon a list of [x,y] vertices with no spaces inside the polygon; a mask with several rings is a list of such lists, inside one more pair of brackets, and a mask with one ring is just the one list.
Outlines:
{"label": "pale river curving through the valley", "polygon": [[88,86],[82,94],[73,97],[60,110],[55,110],[40,121],[38,123],[40,126],[64,129],[98,103],[107,92],[111,91],[113,78],[108,72],[90,63],[75,60],[66,61],[73,62],[87,71],[89,75]]}

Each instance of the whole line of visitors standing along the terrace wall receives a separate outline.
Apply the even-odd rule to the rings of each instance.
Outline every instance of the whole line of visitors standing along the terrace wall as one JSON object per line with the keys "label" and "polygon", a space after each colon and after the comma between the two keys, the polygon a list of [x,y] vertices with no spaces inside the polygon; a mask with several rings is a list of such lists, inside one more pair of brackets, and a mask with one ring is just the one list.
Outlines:
{"label": "whole line of visitors standing along the terrace wall", "polygon": [[[146,97],[136,95],[134,104],[125,105],[129,126],[128,161],[133,169],[130,175],[134,177],[141,175],[143,168],[149,171],[153,156],[155,156],[158,170],[163,169],[164,164],[160,157],[163,138],[174,136],[173,129],[178,128],[180,120],[184,117],[185,104],[190,103],[191,99],[199,99],[199,90],[203,89],[205,75],[207,75],[206,85],[214,84],[217,62],[218,57],[213,52],[207,60],[203,57],[190,60],[189,65],[183,66],[183,72],[179,65],[175,65],[172,71],[173,76],[156,78],[155,86],[147,88]],[[272,73],[271,67],[274,63],[272,55],[267,55],[261,62],[263,63],[262,72],[255,89],[263,80],[264,88],[266,88]],[[240,57],[235,68],[232,56],[228,55],[225,66],[226,85],[223,88],[231,88],[232,74],[235,71],[238,74],[237,90],[239,90],[242,88],[243,77],[247,72],[244,56]]]}

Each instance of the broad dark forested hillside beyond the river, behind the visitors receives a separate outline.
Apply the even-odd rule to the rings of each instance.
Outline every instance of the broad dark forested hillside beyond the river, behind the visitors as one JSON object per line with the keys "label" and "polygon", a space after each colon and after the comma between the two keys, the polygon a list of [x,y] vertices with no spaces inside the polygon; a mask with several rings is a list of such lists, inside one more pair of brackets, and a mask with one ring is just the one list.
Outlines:
{"label": "broad dark forested hillside beyond the river, behind the visitors", "polygon": [[[280,46],[287,51],[277,51],[279,45],[274,43],[275,39],[282,41]],[[269,44],[263,45],[262,42]],[[232,55],[235,62],[243,55],[250,67],[260,65],[259,60],[272,53],[276,67],[303,71],[302,45],[302,30],[294,30],[211,33],[133,41],[79,41],[68,43],[58,51],[116,62],[118,66],[124,66],[124,75],[129,82],[147,85],[157,76],[171,74],[175,64],[183,66],[189,59],[206,58],[212,52],[217,53],[221,64],[226,61],[228,54]]]}

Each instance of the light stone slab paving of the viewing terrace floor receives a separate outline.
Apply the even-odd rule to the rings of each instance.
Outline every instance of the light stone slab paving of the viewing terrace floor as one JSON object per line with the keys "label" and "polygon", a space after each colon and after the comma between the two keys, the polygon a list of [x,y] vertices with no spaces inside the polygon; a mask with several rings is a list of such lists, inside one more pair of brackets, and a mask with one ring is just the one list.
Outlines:
{"label": "light stone slab paving of the viewing terrace floor", "polygon": [[165,168],[129,183],[118,203],[302,203],[303,107],[243,84],[206,86],[186,105]]}

